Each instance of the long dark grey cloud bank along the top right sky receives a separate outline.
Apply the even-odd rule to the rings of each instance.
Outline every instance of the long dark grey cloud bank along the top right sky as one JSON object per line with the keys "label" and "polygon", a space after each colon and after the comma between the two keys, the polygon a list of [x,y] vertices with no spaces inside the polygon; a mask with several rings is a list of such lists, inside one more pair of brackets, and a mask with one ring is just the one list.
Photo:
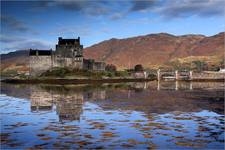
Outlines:
{"label": "long dark grey cloud bank along the top right sky", "polygon": [[224,0],[164,0],[133,1],[130,12],[156,13],[163,18],[190,16],[224,16]]}

